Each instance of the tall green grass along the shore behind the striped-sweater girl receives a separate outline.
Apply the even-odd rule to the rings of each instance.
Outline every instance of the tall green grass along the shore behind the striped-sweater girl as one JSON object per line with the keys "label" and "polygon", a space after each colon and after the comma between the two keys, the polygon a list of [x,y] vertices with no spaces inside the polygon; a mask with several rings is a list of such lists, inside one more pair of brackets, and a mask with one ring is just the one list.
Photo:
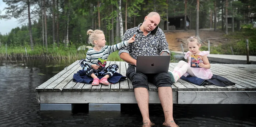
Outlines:
{"label": "tall green grass along the shore behind the striped-sweater girl", "polygon": [[[30,45],[25,46],[7,46],[8,58],[19,59],[19,57],[26,58],[25,47],[27,49],[27,55],[30,59],[53,59],[53,60],[68,60],[75,61],[80,59],[85,59],[86,52],[85,50],[77,50],[78,46],[70,45],[68,48],[64,44],[57,45],[48,45],[48,48],[41,45],[34,45],[34,50],[31,50]],[[5,45],[0,47],[0,58],[5,59],[6,48]],[[7,59],[8,59],[7,58]],[[23,58],[21,58],[23,59]],[[123,61],[118,55],[118,51],[111,53],[108,57],[109,61]]]}

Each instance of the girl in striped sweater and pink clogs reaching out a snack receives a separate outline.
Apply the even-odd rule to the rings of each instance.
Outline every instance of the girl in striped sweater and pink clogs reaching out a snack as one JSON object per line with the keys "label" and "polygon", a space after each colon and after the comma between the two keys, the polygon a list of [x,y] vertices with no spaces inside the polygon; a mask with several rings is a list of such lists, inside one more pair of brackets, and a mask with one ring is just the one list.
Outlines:
{"label": "girl in striped sweater and pink clogs reaching out a snack", "polygon": [[[101,30],[87,31],[89,35],[89,43],[94,45],[93,48],[89,49],[86,53],[86,59],[80,60],[79,64],[85,71],[86,75],[93,78],[92,85],[109,85],[108,78],[118,70],[117,64],[112,64],[106,67],[106,60],[110,53],[119,50],[120,48],[128,46],[130,43],[135,41],[135,37],[131,37],[129,40],[120,42],[113,46],[106,46],[105,35]],[[97,75],[97,76],[96,76]],[[99,79],[98,77],[104,76]]]}

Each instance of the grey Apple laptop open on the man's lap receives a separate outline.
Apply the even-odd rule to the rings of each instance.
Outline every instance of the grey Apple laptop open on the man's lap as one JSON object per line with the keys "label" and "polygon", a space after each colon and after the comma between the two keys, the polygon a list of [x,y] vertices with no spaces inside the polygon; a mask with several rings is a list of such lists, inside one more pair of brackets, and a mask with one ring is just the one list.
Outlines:
{"label": "grey Apple laptop open on the man's lap", "polygon": [[170,55],[137,56],[136,73],[158,74],[168,72]]}

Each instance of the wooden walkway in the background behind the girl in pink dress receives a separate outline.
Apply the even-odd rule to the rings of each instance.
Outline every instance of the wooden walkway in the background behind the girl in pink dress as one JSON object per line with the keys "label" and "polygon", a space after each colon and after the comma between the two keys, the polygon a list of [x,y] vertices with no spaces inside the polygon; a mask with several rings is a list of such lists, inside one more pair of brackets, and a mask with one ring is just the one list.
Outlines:
{"label": "wooden walkway in the background behind the girl in pink dress", "polygon": [[[181,51],[170,51],[175,54],[183,55]],[[184,52],[185,53],[185,52]],[[230,64],[246,64],[246,55],[225,55],[225,54],[210,54],[208,55],[210,63],[230,63]],[[256,56],[249,56],[251,64],[256,64]]]}

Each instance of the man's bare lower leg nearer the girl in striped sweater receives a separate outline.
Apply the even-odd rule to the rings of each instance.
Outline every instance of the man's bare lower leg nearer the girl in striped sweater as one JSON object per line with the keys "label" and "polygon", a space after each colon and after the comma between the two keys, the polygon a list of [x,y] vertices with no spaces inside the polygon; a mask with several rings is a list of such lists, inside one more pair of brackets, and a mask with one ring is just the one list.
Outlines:
{"label": "man's bare lower leg nearer the girl in striped sweater", "polygon": [[152,126],[151,121],[149,119],[149,110],[148,110],[148,89],[144,87],[139,87],[134,89],[135,98],[139,106],[139,110],[141,111],[142,119],[143,119],[143,127]]}

